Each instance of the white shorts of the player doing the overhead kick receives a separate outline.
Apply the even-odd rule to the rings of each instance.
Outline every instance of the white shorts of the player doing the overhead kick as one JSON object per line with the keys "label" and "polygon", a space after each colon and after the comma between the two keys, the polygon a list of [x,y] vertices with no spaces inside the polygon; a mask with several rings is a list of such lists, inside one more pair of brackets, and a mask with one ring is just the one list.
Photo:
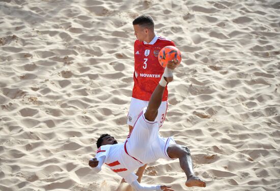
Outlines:
{"label": "white shorts of the player doing the overhead kick", "polygon": [[172,137],[164,138],[158,134],[157,121],[148,121],[142,111],[136,119],[131,133],[125,143],[127,154],[135,160],[147,164],[159,158],[172,160],[167,154],[167,148],[176,144]]}

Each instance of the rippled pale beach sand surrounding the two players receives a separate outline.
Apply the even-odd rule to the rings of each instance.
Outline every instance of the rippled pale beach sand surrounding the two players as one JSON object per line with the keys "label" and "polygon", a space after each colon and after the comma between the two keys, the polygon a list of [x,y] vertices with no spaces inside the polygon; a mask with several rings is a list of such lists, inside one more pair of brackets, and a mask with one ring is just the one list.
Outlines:
{"label": "rippled pale beach sand surrounding the two players", "polygon": [[206,188],[178,160],[143,182],[175,190],[280,190],[280,3],[0,1],[0,190],[116,190],[88,160],[119,142],[133,87],[132,21],[150,14],[183,54],[160,134],[189,146]]}

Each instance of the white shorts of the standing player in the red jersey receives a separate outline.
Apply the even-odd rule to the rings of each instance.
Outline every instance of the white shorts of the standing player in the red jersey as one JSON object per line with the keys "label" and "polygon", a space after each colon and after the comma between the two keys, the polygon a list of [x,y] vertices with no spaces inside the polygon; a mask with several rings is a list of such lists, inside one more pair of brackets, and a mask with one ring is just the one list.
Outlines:
{"label": "white shorts of the standing player in the red jersey", "polygon": [[[139,113],[145,107],[148,107],[148,104],[149,104],[148,101],[131,98],[129,112],[127,115],[127,124],[130,126],[133,126],[135,121],[138,118]],[[158,114],[156,117],[159,128],[162,126],[162,124],[165,120],[166,110],[167,110],[167,101],[161,102],[161,104],[158,108]]]}

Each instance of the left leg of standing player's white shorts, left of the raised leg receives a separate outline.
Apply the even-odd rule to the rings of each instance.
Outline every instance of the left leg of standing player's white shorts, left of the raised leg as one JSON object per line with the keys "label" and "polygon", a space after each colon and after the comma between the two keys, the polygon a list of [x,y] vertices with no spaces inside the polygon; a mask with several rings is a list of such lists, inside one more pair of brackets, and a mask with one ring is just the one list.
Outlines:
{"label": "left leg of standing player's white shorts, left of the raised leg", "polygon": [[130,107],[127,115],[127,124],[130,126],[134,126],[139,114],[141,113],[143,108],[147,106],[147,101],[131,98]]}

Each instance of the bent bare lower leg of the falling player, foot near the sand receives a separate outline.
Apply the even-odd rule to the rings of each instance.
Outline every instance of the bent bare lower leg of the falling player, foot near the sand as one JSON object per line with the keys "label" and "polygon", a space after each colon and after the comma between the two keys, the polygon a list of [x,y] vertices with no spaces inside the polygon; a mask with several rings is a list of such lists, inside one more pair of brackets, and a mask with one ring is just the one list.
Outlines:
{"label": "bent bare lower leg of the falling player, foot near the sand", "polygon": [[183,169],[187,176],[187,181],[185,182],[186,186],[206,186],[205,181],[194,175],[190,150],[188,149],[188,147],[173,144],[167,148],[167,154],[171,158],[179,158],[180,167]]}

